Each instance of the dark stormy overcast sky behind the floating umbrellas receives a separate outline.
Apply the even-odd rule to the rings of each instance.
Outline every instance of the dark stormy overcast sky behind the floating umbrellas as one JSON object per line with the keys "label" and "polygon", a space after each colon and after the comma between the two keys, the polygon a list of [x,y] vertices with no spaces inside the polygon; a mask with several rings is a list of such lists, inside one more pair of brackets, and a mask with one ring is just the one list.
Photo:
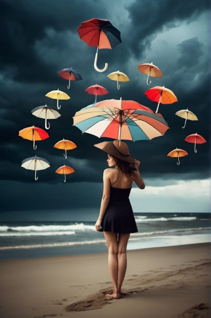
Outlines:
{"label": "dark stormy overcast sky behind the floating umbrellas", "polygon": [[[108,138],[82,134],[72,117],[94,103],[85,92],[99,84],[108,90],[104,99],[135,100],[154,112],[157,103],[144,94],[154,86],[172,90],[178,101],[160,104],[159,112],[170,127],[166,134],[151,141],[126,141],[130,153],[141,162],[146,183],[135,185],[130,200],[134,212],[210,212],[210,2],[208,0],[19,0],[1,1],[0,51],[0,129],[1,129],[1,214],[0,220],[95,220],[102,197],[102,175],[107,168],[106,153],[93,147]],[[112,50],[99,50],[99,73],[93,63],[96,47],[79,38],[81,22],[93,17],[108,19],[121,32],[122,43]],[[137,66],[151,63],[163,77],[147,76]],[[82,80],[68,81],[58,71],[72,67]],[[107,75],[119,70],[130,81],[117,83]],[[56,100],[45,97],[51,90],[67,93],[61,100],[61,116],[50,120],[49,138],[33,143],[18,136],[19,130],[37,126],[45,130],[44,119],[31,114],[35,107],[56,107]],[[187,121],[175,113],[189,109],[198,121]],[[207,142],[185,142],[198,133]],[[62,139],[77,145],[67,151],[53,148]],[[188,155],[176,158],[167,154],[181,148]],[[23,159],[39,156],[50,168],[34,171],[21,167]],[[62,165],[75,173],[55,171]]]}

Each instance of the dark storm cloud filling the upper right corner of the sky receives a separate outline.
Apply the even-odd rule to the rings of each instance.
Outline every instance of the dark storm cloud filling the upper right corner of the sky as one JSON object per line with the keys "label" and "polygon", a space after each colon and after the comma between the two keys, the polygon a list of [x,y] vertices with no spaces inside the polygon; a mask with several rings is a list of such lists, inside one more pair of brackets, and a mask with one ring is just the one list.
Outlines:
{"label": "dark storm cloud filling the upper right corner of the sky", "polygon": [[146,47],[150,47],[156,34],[165,29],[174,28],[184,20],[193,21],[198,14],[209,10],[208,0],[192,1],[148,1],[136,0],[127,6],[131,26],[128,31],[132,52],[138,57]]}

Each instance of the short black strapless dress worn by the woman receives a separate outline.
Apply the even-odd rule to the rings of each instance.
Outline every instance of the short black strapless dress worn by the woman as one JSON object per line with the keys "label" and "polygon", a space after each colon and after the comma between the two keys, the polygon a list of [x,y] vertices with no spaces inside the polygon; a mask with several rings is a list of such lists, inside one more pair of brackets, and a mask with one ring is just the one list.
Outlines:
{"label": "short black strapless dress worn by the woman", "polygon": [[101,223],[101,232],[138,232],[129,195],[131,188],[111,187],[110,200]]}

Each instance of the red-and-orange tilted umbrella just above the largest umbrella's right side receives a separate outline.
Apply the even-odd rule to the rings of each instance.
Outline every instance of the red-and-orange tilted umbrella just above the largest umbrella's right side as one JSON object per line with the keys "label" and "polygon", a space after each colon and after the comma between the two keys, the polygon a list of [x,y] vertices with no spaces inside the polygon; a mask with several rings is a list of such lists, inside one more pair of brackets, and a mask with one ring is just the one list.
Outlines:
{"label": "red-and-orange tilted umbrella just above the largest umbrella's right side", "polygon": [[155,113],[158,112],[160,103],[172,104],[175,101],[177,101],[177,97],[174,95],[174,93],[165,86],[154,86],[153,88],[148,89],[148,91],[145,92],[145,95],[150,100],[158,102],[158,106]]}

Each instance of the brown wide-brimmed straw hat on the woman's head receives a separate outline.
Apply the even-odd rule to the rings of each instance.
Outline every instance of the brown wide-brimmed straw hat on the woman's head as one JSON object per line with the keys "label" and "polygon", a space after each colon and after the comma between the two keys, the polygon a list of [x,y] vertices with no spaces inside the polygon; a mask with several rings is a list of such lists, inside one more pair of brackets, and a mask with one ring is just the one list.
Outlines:
{"label": "brown wide-brimmed straw hat on the woman's head", "polygon": [[129,162],[129,163],[135,162],[135,158],[133,158],[129,154],[129,149],[125,142],[121,141],[119,145],[119,140],[104,141],[104,142],[97,143],[94,146],[107,152],[107,154],[115,156],[126,162]]}

